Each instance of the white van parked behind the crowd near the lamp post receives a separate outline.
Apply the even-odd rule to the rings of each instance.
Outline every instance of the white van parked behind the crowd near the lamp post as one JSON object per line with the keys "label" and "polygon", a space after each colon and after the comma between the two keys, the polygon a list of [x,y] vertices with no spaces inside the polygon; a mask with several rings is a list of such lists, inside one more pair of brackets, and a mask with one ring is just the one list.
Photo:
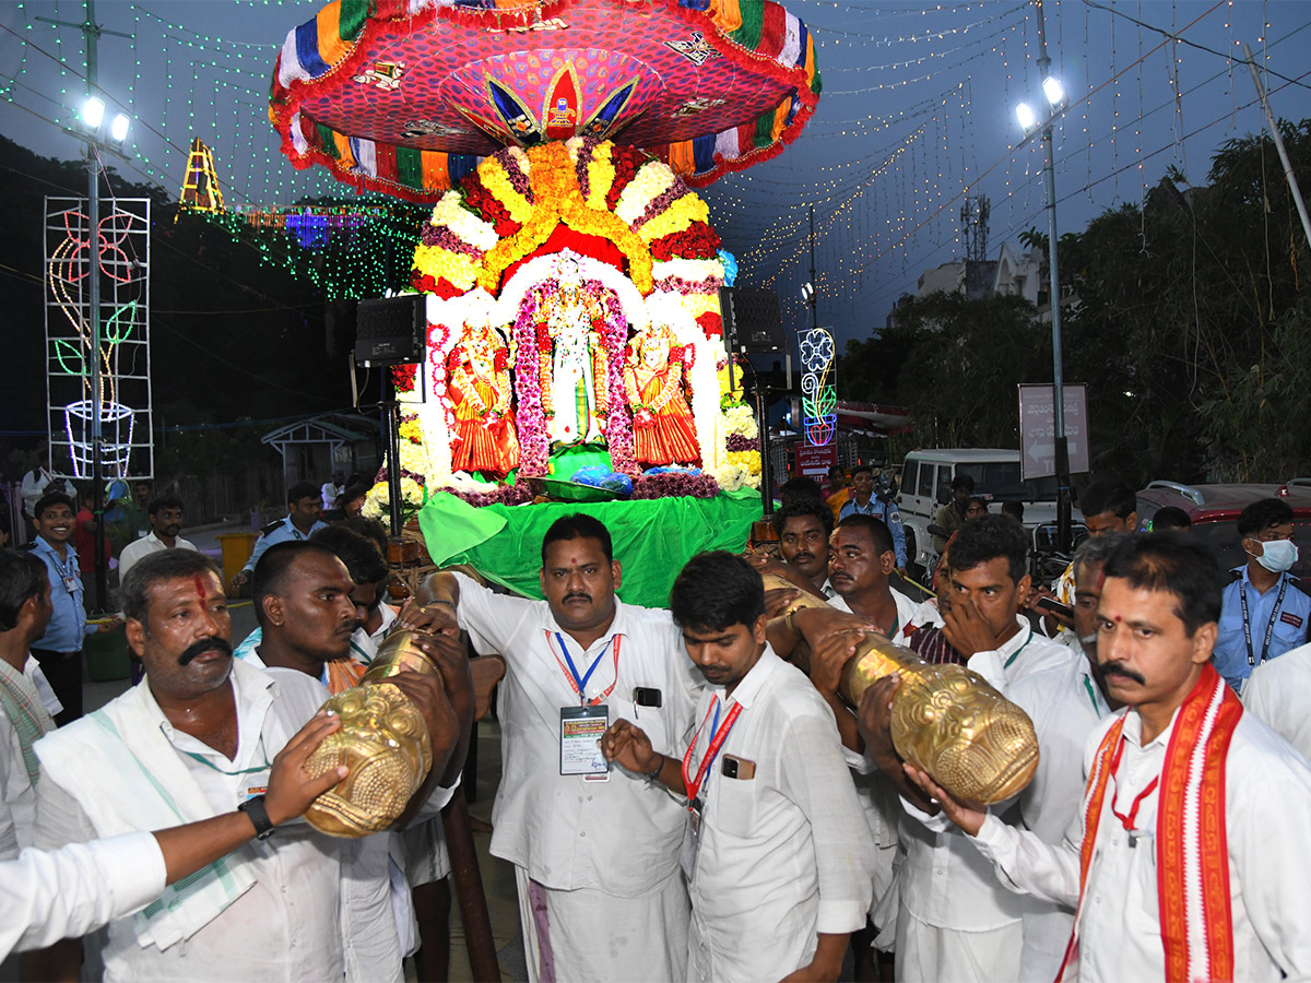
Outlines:
{"label": "white van parked behind the crowd near the lamp post", "polygon": [[[999,511],[1006,501],[1024,503],[1024,527],[1034,530],[1057,520],[1057,480],[1020,477],[1020,452],[1004,447],[957,447],[911,451],[902,464],[901,509],[906,527],[906,556],[928,566],[935,560],[933,536],[928,527],[937,510],[952,499],[952,478],[969,474],[974,494],[982,495],[988,511]],[[1074,520],[1080,515],[1074,512]]]}

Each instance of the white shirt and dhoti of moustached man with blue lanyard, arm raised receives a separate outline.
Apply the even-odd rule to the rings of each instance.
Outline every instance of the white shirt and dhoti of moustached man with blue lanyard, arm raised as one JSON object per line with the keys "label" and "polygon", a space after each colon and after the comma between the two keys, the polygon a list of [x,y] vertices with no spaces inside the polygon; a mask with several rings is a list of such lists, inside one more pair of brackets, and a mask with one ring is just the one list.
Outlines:
{"label": "white shirt and dhoti of moustached man with blue lanyard, arm raised", "polygon": [[[678,856],[684,813],[665,790],[617,765],[608,781],[560,775],[560,709],[578,706],[566,670],[556,661],[557,633],[564,636],[544,600],[494,594],[463,574],[459,623],[480,653],[506,661],[499,689],[501,786],[492,811],[492,853],[523,868],[527,877],[553,891],[599,891],[612,902],[616,923],[627,923],[623,906],[646,911],[658,891],[683,893]],[[617,676],[612,658],[619,637]],[[602,657],[587,680],[589,699],[610,689],[603,704],[610,722],[632,721],[667,755],[679,755],[691,734],[692,708],[700,688],[683,637],[667,611],[615,602],[610,632],[586,653],[564,636],[579,672]],[[612,687],[612,688],[611,688]],[[637,706],[638,688],[658,689],[662,706]],[[582,898],[582,895],[579,895]],[[568,898],[552,900],[568,906]],[[597,899],[582,900],[590,915]],[[520,899],[527,911],[527,899]],[[524,938],[534,933],[523,919]],[[684,929],[686,931],[686,929]],[[604,937],[607,927],[595,925]],[[560,979],[661,979],[682,973],[684,937],[629,936],[625,952],[611,961],[606,946],[565,952],[553,946]],[[531,958],[530,958],[531,962]],[[536,967],[530,967],[536,973]]]}

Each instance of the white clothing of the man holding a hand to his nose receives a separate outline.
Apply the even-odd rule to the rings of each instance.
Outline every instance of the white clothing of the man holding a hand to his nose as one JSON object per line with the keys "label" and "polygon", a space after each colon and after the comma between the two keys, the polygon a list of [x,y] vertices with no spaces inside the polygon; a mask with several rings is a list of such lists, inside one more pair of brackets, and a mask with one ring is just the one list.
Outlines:
{"label": "white clothing of the man holding a hand to his nose", "polygon": [[[1067,663],[1070,650],[1019,630],[998,649],[975,653],[969,668],[1003,693],[1024,676]],[[996,878],[956,827],[933,831],[903,814],[906,864],[899,878],[898,976],[902,980],[1013,979],[1023,946],[1023,902]]]}

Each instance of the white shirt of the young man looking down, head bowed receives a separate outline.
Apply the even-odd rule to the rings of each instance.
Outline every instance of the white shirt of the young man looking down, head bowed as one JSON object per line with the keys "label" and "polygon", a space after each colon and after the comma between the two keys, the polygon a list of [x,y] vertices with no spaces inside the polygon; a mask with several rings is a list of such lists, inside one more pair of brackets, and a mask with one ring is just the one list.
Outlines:
{"label": "white shirt of the young man looking down, head bowed", "polygon": [[[699,792],[700,834],[690,830],[684,845],[687,978],[772,983],[810,962],[818,933],[864,928],[873,844],[829,704],[768,646],[726,701],[722,687],[703,693],[692,773],[712,708],[724,726],[733,704],[742,710]],[[724,775],[725,755],[753,763],[755,776]]]}

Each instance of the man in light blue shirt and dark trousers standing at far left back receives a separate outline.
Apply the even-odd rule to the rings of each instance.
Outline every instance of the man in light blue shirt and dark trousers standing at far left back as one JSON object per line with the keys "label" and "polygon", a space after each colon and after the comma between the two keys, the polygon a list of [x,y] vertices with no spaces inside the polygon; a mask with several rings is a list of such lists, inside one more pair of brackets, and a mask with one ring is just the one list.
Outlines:
{"label": "man in light blue shirt and dark trousers standing at far left back", "polygon": [[55,714],[55,723],[63,726],[81,717],[83,638],[110,632],[118,624],[87,624],[77,553],[72,548],[73,499],[59,493],[43,495],[33,511],[37,541],[31,552],[46,565],[55,612],[46,633],[33,644],[31,655],[41,663],[46,682],[64,706]]}

